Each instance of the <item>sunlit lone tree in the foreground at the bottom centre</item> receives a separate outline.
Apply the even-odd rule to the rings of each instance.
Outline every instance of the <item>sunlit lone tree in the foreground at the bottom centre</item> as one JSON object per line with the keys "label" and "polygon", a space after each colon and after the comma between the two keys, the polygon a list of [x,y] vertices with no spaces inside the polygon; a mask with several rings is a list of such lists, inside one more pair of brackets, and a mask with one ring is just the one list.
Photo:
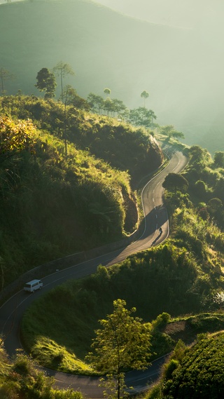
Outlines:
{"label": "sunlit lone tree in the foreground at the bottom centre", "polygon": [[87,356],[97,370],[106,373],[107,381],[115,380],[113,392],[118,399],[126,388],[124,370],[146,368],[151,346],[151,325],[130,316],[136,309],[128,311],[125,305],[123,299],[117,299],[113,302],[113,313],[99,320],[102,328],[95,331],[92,343],[95,352]]}

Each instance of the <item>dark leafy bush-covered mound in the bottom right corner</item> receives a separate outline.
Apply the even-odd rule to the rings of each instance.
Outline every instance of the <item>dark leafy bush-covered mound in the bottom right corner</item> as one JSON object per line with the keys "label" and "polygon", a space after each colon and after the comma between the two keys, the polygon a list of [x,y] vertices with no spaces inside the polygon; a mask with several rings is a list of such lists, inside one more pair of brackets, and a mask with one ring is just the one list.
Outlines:
{"label": "dark leafy bush-covered mound in the bottom right corner", "polygon": [[[180,364],[171,360],[162,399],[220,399],[224,395],[224,336],[200,339],[186,351]],[[173,366],[173,367],[172,367]],[[167,377],[167,378],[166,378]]]}

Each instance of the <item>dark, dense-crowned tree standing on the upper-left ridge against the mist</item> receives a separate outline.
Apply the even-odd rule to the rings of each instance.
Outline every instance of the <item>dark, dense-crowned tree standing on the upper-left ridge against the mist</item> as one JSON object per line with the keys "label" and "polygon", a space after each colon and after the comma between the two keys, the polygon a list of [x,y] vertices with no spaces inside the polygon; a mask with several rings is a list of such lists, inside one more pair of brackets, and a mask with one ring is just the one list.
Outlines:
{"label": "dark, dense-crowned tree standing on the upper-left ridge against the mist", "polygon": [[55,75],[49,71],[48,68],[42,68],[37,76],[36,88],[40,91],[45,91],[44,98],[55,97],[55,88],[57,86]]}

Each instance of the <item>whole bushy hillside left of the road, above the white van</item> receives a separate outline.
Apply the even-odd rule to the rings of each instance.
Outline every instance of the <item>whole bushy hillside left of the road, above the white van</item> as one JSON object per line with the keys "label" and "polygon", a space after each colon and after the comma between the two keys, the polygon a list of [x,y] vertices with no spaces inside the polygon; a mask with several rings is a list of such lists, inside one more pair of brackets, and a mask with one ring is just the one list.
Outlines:
{"label": "whole bushy hillside left of the road, above the white van", "polygon": [[0,112],[1,286],[134,231],[132,183],[162,161],[146,130],[69,105],[65,155],[64,104],[9,96]]}

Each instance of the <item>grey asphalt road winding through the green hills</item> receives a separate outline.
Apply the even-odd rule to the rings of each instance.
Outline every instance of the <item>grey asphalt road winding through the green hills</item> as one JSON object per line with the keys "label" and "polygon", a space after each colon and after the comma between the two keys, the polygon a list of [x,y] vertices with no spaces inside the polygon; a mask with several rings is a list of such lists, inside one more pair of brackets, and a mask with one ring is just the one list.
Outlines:
{"label": "grey asphalt road winding through the green hills", "polygon": [[[134,243],[120,250],[104,254],[94,259],[87,260],[68,269],[57,271],[42,278],[44,286],[41,291],[34,295],[27,295],[21,290],[3,304],[0,308],[0,332],[5,338],[4,346],[10,356],[15,354],[16,349],[21,348],[20,343],[20,320],[31,302],[42,295],[43,292],[51,290],[56,285],[74,278],[82,278],[97,271],[97,266],[102,264],[110,266],[122,262],[127,256],[135,252],[146,250],[152,245],[162,243],[169,235],[169,220],[167,210],[162,202],[162,182],[168,173],[180,173],[187,164],[187,158],[179,151],[169,154],[169,164],[158,175],[151,179],[142,191],[142,204],[144,208],[144,233]],[[162,227],[162,234],[159,228]],[[133,371],[127,373],[127,386],[133,386],[132,393],[144,391],[158,377],[163,359],[153,362],[153,365],[144,372]],[[87,398],[103,398],[102,388],[99,388],[99,380],[94,377],[78,377],[71,374],[53,372],[48,374],[55,377],[55,386],[73,388],[81,391]]]}

